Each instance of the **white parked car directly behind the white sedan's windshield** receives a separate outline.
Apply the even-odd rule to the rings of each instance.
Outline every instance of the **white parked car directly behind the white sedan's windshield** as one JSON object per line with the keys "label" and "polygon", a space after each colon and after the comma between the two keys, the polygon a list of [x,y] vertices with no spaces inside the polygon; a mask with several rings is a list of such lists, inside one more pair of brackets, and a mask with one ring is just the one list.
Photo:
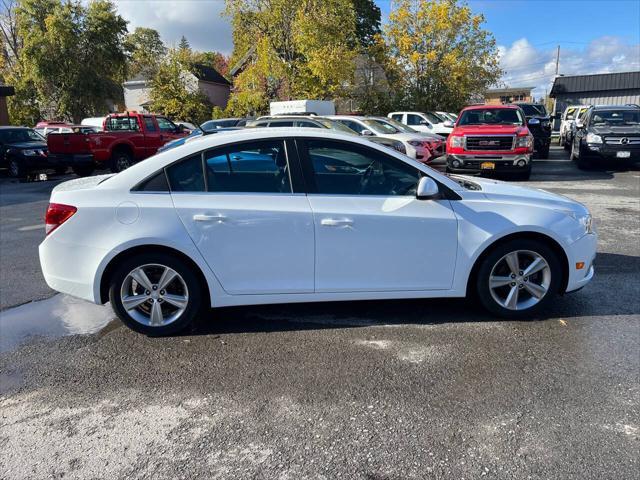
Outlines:
{"label": "white parked car directly behind the white sedan's windshield", "polygon": [[328,117],[342,123],[358,135],[369,138],[391,137],[404,144],[406,154],[424,163],[429,163],[433,154],[430,141],[413,133],[403,133],[398,128],[388,123],[383,123],[373,118],[359,117],[355,115],[333,115]]}

